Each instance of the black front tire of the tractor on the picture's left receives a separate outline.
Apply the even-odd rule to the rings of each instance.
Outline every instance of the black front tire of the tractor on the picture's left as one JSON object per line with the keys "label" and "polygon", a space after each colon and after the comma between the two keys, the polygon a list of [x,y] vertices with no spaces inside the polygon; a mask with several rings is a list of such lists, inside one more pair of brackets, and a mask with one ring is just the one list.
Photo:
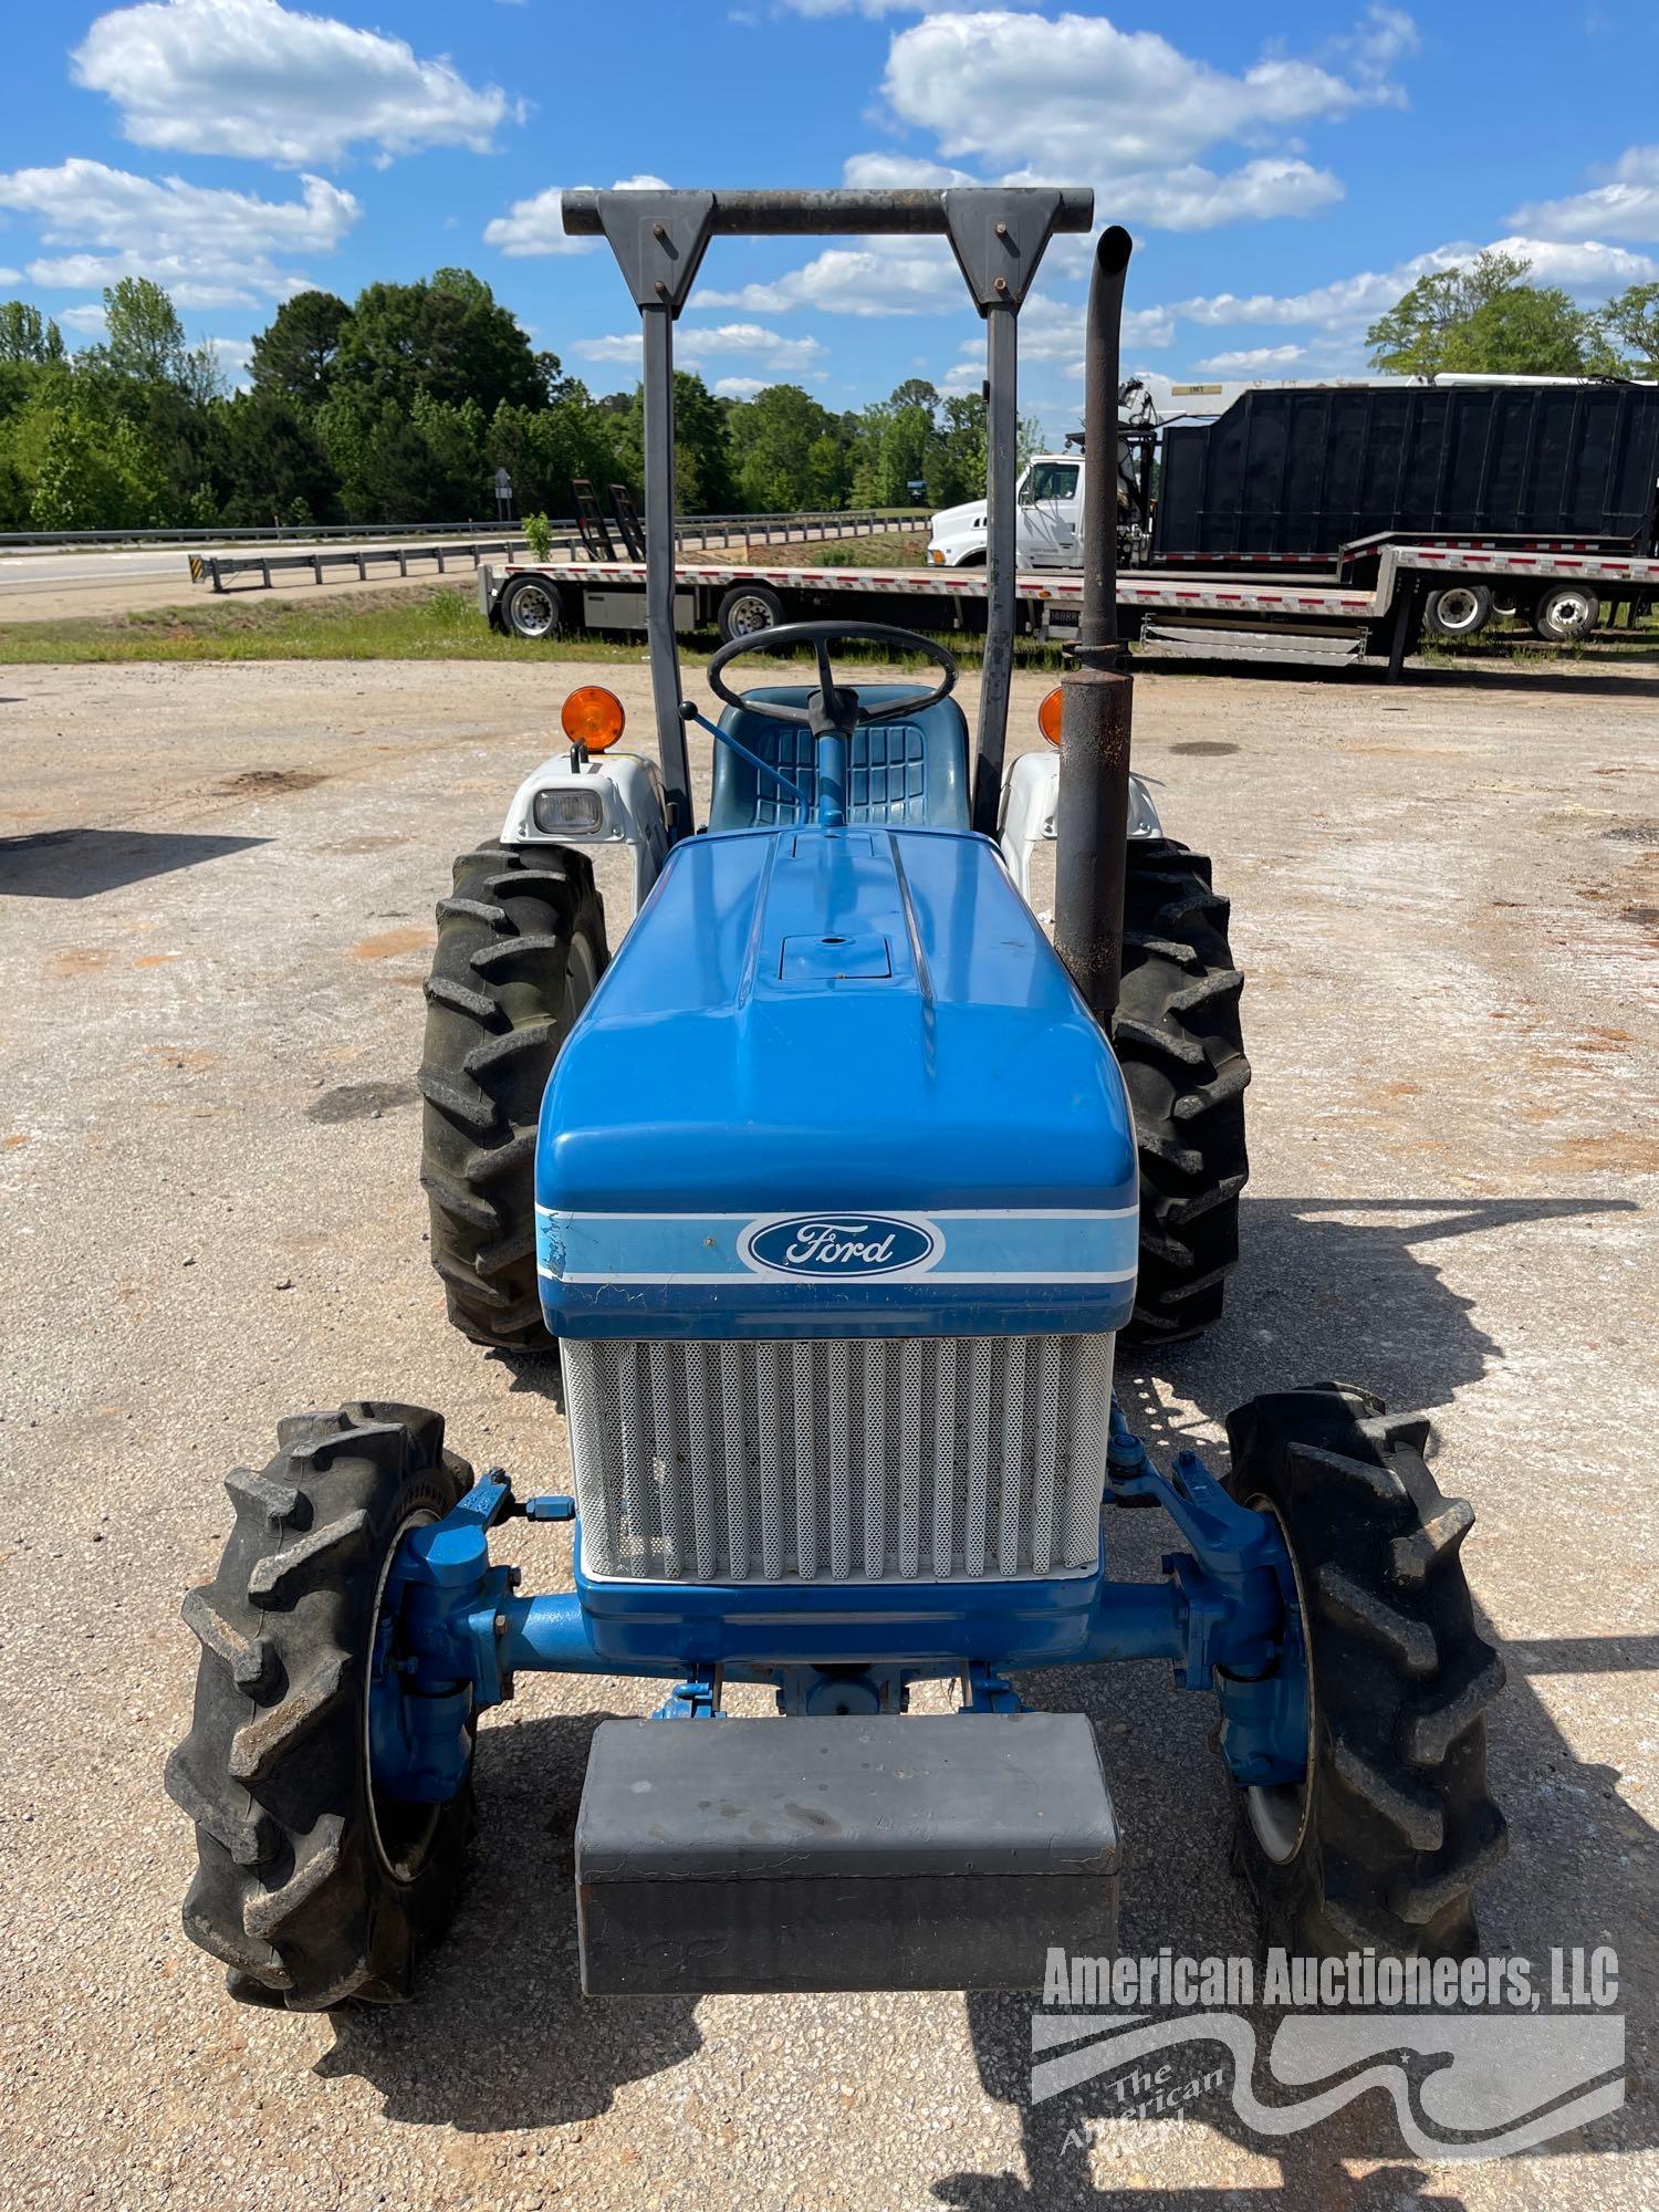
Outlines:
{"label": "black front tire of the tractor on the picture's left", "polygon": [[190,1590],[201,1644],[168,1796],[195,1820],[184,1929],[243,2004],[398,2004],[442,1933],[473,1827],[471,1774],[445,1805],[374,1790],[367,1670],[387,1562],[471,1484],[442,1418],[361,1402],[299,1413],[226,1489],[219,1573]]}

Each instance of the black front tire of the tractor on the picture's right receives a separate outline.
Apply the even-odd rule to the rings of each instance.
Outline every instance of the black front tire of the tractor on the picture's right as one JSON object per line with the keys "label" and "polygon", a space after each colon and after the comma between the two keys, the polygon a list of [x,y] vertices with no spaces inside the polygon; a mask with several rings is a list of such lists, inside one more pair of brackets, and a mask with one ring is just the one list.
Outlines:
{"label": "black front tire of the tractor on the picture's right", "polygon": [[1237,1790],[1234,1865],[1263,1944],[1298,1958],[1467,1958],[1504,1856],[1484,1721],[1504,1663],[1458,1562],[1475,1515],[1425,1467],[1427,1420],[1385,1413],[1329,1383],[1228,1413],[1228,1489],[1283,1531],[1310,1679],[1307,1774]]}

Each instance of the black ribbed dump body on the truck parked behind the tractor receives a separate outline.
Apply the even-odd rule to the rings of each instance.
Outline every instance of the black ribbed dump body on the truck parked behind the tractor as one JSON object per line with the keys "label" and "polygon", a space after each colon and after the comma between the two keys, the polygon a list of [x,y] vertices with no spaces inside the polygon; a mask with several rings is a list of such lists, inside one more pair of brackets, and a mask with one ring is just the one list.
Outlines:
{"label": "black ribbed dump body on the truck parked behind the tractor", "polygon": [[[1329,385],[1172,422],[1152,566],[1349,568],[1378,538],[1655,551],[1659,385]],[[1347,557],[1345,557],[1347,555]]]}

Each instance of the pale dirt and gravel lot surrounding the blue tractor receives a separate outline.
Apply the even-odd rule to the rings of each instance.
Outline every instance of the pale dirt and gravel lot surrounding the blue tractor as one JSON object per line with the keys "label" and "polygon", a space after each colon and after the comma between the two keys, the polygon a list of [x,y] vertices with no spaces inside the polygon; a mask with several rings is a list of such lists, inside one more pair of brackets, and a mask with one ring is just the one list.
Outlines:
{"label": "pale dirt and gravel lot surrounding the blue tractor", "polygon": [[[637,655],[615,681],[644,706]],[[1042,688],[1015,681],[1022,730]],[[562,1471],[540,1365],[445,1327],[411,1084],[449,856],[551,750],[557,695],[551,666],[0,668],[0,2201],[1652,2203],[1659,686],[1637,677],[1141,677],[1137,759],[1234,898],[1254,1179],[1225,1327],[1121,1374],[1164,1449],[1332,1374],[1431,1413],[1511,1668],[1486,1944],[1619,1947],[1624,2112],[1509,2166],[1405,2159],[1376,2095],[1276,2150],[1225,2099],[1079,2150],[1086,2093],[1022,2106],[1018,2000],[584,2004],[571,1825],[595,1714],[648,1703],[628,1683],[531,1679],[484,1723],[482,1836],[416,2006],[221,1995],[179,1931],[161,1759],[223,1471],[279,1413],[369,1394],[442,1407],[473,1460]],[[617,869],[606,889],[626,911]],[[1146,1573],[1155,1515],[1119,1520]],[[542,1584],[568,1557],[557,1531],[520,1555]],[[1208,1703],[1157,1666],[1031,1694],[1102,1730],[1126,1947],[1248,1947]]]}

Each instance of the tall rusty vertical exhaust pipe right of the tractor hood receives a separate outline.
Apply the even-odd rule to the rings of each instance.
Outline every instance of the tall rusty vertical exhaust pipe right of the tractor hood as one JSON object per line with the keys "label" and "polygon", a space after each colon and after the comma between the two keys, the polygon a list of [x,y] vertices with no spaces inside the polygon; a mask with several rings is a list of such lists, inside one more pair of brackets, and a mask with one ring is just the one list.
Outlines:
{"label": "tall rusty vertical exhaust pipe right of the tractor hood", "polygon": [[1124,969],[1124,860],[1135,679],[1117,637],[1117,343],[1130,234],[1102,232],[1084,345],[1084,611],[1060,684],[1055,951],[1110,1033]]}

